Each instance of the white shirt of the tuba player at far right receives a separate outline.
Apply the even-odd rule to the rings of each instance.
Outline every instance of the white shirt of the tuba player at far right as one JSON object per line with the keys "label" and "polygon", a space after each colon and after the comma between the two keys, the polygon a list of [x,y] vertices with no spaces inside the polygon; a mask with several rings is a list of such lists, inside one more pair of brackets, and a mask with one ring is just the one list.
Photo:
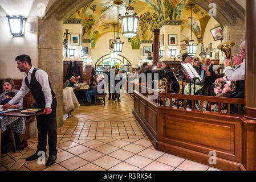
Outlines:
{"label": "white shirt of the tuba player at far right", "polygon": [[[241,65],[241,67],[239,67]],[[241,81],[245,80],[245,62],[241,63],[232,69],[231,67],[226,67],[224,73],[229,81]],[[239,68],[238,68],[239,67]]]}

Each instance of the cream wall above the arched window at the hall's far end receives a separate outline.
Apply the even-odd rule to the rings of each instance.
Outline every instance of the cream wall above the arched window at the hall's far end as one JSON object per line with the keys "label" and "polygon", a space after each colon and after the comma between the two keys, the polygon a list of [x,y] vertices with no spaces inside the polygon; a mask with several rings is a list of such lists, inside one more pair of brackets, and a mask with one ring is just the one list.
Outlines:
{"label": "cream wall above the arched window at the hall's far end", "polygon": [[[131,43],[128,42],[127,38],[121,34],[119,34],[119,37],[121,42],[124,42],[123,53],[120,55],[126,57],[132,64],[132,67],[135,68],[135,65],[139,64],[139,59],[141,57],[140,49],[132,49]],[[93,59],[92,65],[95,65],[96,61],[99,60],[100,57],[107,55],[110,53],[110,51],[112,51],[109,49],[110,39],[113,39],[113,32],[108,32],[97,40],[95,49],[91,49],[91,57]]]}

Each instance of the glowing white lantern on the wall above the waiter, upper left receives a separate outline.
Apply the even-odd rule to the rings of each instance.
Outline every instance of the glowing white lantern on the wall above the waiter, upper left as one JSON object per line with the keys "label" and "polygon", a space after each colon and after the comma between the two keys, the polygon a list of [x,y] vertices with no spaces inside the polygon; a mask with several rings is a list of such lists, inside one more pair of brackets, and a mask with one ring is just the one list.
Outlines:
{"label": "glowing white lantern on the wall above the waiter, upper left", "polygon": [[23,36],[25,30],[25,20],[24,16],[6,16],[8,18],[9,28],[11,35],[13,36]]}

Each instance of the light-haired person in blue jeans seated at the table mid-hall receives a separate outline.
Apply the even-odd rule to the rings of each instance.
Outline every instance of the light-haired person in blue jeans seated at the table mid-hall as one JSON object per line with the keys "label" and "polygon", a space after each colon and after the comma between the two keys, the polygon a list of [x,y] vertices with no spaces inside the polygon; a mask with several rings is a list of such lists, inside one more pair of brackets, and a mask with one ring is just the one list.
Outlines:
{"label": "light-haired person in blue jeans seated at the table mid-hall", "polygon": [[104,81],[104,76],[100,75],[99,76],[99,82],[96,84],[96,81],[92,81],[92,89],[86,92],[86,98],[87,98],[87,104],[90,105],[92,102],[91,96],[96,96],[99,94],[104,93],[105,89],[105,81]]}

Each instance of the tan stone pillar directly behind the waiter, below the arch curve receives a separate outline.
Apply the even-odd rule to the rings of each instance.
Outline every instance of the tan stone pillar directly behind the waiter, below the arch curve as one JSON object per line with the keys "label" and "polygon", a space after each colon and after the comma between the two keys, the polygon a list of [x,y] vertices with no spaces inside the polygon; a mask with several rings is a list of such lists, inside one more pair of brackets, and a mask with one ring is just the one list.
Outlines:
{"label": "tan stone pillar directly behind the waiter, below the arch curve", "polygon": [[55,16],[38,20],[38,68],[48,73],[57,99],[57,127],[63,127],[63,22]]}

